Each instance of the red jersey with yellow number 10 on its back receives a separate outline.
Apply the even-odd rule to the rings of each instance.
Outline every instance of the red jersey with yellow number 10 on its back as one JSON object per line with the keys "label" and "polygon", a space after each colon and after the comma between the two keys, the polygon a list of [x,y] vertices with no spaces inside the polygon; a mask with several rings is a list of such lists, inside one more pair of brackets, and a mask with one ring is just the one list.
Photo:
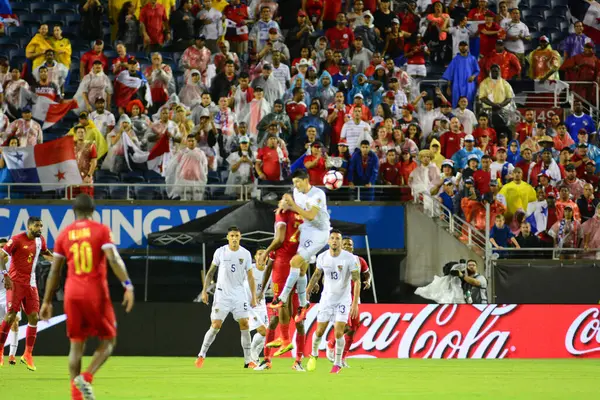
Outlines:
{"label": "red jersey with yellow number 10 on its back", "polygon": [[55,256],[67,260],[65,298],[109,298],[104,250],[114,247],[110,229],[92,220],[78,220],[56,239]]}

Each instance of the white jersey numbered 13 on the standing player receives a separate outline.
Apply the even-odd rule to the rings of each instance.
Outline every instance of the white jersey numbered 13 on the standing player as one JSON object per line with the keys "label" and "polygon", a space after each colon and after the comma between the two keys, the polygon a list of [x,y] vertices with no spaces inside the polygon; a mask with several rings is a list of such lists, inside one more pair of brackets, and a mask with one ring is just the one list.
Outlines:
{"label": "white jersey numbered 13 on the standing player", "polygon": [[352,271],[360,271],[358,260],[352,253],[342,250],[337,257],[327,250],[317,257],[317,268],[323,270],[322,304],[350,304]]}

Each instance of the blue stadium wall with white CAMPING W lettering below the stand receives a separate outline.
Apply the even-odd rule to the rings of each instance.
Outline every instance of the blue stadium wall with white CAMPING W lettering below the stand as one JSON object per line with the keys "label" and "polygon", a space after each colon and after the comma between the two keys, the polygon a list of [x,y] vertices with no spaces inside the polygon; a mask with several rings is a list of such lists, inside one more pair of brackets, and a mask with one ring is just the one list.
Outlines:
{"label": "blue stadium wall with white CAMPING W lettering below the stand", "polygon": [[[232,204],[182,205],[113,205],[99,204],[95,219],[108,225],[120,249],[145,248],[148,234],[178,226]],[[377,250],[402,250],[405,247],[405,218],[402,205],[336,205],[329,207],[332,218],[367,225],[369,245]],[[52,248],[58,232],[73,222],[71,205],[5,204],[0,206],[0,237],[25,231],[29,216],[41,216],[43,235]],[[393,234],[390,234],[393,233]],[[365,248],[362,237],[355,238],[357,249]]]}

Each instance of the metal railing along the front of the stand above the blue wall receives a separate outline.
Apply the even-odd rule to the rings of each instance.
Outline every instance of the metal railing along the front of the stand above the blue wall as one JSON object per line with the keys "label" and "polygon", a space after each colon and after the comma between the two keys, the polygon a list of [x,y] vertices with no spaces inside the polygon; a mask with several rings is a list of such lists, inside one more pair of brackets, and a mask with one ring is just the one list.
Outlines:
{"label": "metal railing along the front of the stand above the blue wall", "polygon": [[[55,188],[43,191],[44,188]],[[102,200],[168,200],[167,189],[183,187],[184,197],[182,200],[197,201],[246,201],[253,198],[263,200],[276,200],[284,193],[291,191],[292,185],[282,183],[281,185],[169,185],[157,183],[93,183],[81,185],[65,185],[60,183],[0,183],[0,190],[6,190],[6,200],[15,199],[44,199],[44,200],[68,200],[78,193],[89,188],[94,189],[96,199]],[[330,201],[408,201],[410,200],[410,189],[407,186],[373,185],[344,186],[338,190],[325,190]],[[194,199],[193,192],[203,188],[202,199]],[[235,194],[225,194],[225,189],[235,188]],[[187,191],[190,191],[188,193]]]}

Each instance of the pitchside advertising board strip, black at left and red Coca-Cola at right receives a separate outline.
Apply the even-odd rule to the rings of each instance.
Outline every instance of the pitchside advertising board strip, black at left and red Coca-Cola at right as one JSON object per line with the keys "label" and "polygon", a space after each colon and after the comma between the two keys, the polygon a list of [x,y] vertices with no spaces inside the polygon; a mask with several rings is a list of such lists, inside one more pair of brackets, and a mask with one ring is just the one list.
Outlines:
{"label": "pitchside advertising board strip, black at left and red Coca-Cola at right", "polygon": [[[116,355],[195,357],[210,326],[210,307],[199,303],[139,303],[130,314],[115,304],[115,310]],[[313,306],[305,322],[305,354],[317,311]],[[600,358],[598,305],[362,304],[360,312],[350,357]],[[55,314],[50,325],[38,327],[37,355],[68,353],[61,304],[55,305]],[[326,337],[332,335],[330,326]],[[25,325],[19,337],[23,346]],[[239,327],[228,318],[209,357],[241,357],[241,348],[232,343],[239,343]],[[322,341],[320,350],[325,346]]]}

